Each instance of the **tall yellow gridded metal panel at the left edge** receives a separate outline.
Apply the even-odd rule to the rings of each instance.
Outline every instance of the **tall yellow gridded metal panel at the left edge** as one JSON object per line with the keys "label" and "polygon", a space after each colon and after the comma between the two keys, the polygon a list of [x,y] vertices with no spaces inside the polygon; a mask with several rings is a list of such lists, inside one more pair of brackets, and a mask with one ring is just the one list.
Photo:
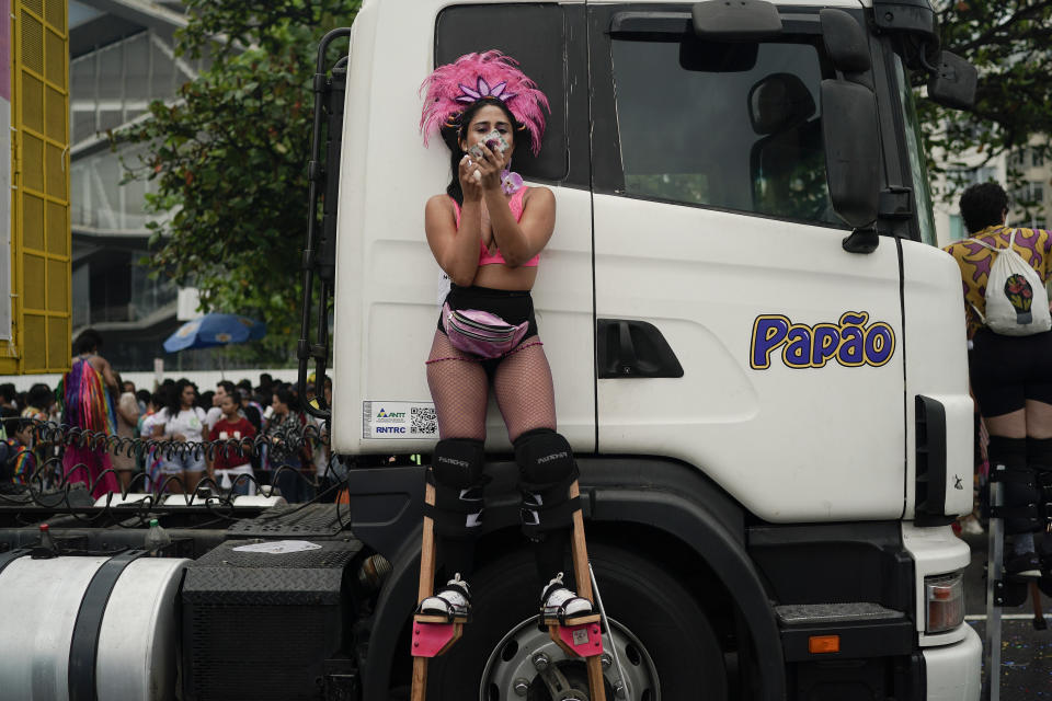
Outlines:
{"label": "tall yellow gridded metal panel at the left edge", "polygon": [[12,0],[11,277],[14,343],[0,374],[70,361],[69,27],[66,0]]}

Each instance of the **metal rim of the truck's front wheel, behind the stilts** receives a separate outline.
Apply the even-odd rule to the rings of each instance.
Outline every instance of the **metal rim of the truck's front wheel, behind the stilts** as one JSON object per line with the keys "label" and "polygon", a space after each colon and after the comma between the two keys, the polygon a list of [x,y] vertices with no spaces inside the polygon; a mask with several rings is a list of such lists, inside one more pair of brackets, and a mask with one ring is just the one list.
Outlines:
{"label": "metal rim of the truck's front wheel, behind the stilts", "polygon": [[[610,634],[603,636],[603,678],[607,699],[660,701],[658,670],[647,648],[617,620],[611,618],[607,622]],[[614,664],[610,635],[625,671],[625,687],[621,687],[621,676]],[[540,678],[540,669],[535,664],[537,655],[545,655],[548,664],[556,665],[574,688],[587,690],[584,662],[567,655],[548,636],[547,630],[538,629],[537,617],[534,616],[508,631],[490,653],[482,670],[480,701],[560,701],[551,699]]]}

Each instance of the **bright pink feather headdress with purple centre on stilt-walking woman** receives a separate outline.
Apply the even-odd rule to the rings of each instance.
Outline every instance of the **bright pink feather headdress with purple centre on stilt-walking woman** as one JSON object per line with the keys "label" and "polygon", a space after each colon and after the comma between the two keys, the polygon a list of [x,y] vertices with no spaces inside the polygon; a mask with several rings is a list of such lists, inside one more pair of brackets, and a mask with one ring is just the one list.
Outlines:
{"label": "bright pink feather headdress with purple centre on stilt-walking woman", "polygon": [[444,126],[454,126],[465,108],[477,100],[493,97],[507,105],[512,116],[526,127],[536,156],[545,134],[545,110],[548,97],[537,83],[518,68],[518,61],[490,49],[482,54],[466,54],[451,64],[439,66],[424,80],[420,91],[424,95],[424,111],[420,130],[424,146],[428,137]]}

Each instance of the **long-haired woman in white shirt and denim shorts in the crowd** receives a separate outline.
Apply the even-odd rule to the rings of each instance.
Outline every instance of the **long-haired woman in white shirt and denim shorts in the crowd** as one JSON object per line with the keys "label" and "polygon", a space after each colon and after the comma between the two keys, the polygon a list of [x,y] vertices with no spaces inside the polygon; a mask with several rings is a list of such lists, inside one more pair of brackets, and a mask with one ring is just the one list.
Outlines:
{"label": "long-haired woman in white shirt and denim shorts in the crowd", "polygon": [[[153,437],[162,440],[174,440],[199,445],[204,440],[205,410],[196,406],[197,388],[187,379],[175,382],[168,405],[153,420]],[[163,479],[178,475],[180,480],[168,482],[168,490],[174,494],[192,494],[201,482],[205,472],[205,456],[203,450],[186,450],[185,452],[162,452],[164,458],[161,464]]]}

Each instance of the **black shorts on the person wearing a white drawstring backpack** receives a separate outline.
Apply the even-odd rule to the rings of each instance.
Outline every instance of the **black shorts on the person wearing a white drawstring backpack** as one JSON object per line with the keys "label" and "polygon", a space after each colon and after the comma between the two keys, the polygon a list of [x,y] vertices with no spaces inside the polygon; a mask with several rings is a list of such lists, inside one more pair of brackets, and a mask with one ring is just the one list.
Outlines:
{"label": "black shorts on the person wearing a white drawstring backpack", "polygon": [[968,354],[968,375],[983,416],[1000,416],[1027,400],[1052,404],[1052,331],[1002,336],[981,329]]}

